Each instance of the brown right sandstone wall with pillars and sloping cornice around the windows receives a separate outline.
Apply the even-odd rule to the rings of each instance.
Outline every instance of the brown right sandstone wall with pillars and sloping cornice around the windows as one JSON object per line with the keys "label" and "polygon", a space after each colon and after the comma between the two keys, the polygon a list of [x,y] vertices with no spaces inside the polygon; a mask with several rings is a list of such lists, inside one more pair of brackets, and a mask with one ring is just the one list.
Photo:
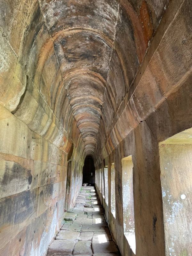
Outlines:
{"label": "brown right sandstone wall with pillars and sloping cornice around the windows", "polygon": [[[105,128],[106,123],[102,124],[101,121],[101,141],[98,140],[96,145],[98,157],[95,158],[95,166],[99,170],[103,159],[108,159],[108,205],[101,196],[98,184],[96,187],[105,208],[108,225],[123,255],[134,255],[123,232],[121,159],[130,155],[133,161],[136,255],[174,255],[174,251],[169,254],[167,249],[165,252],[159,142],[192,127],[192,44],[189,36],[192,23],[189,20],[189,1],[170,1],[143,63],[134,81],[130,80],[130,88],[127,93],[124,92],[117,111],[111,110],[114,104],[110,107],[107,103],[103,105],[108,113],[114,112],[114,117],[108,122],[108,129]],[[120,47],[124,33],[120,28],[117,23],[114,48],[118,46],[124,58],[126,54],[122,52],[123,47]],[[126,63],[124,69],[132,70]],[[113,82],[116,79],[114,67],[111,67],[111,77]],[[121,82],[114,84],[113,89],[119,89],[123,77],[125,79],[128,76],[121,77]],[[118,89],[116,91],[120,93]],[[106,114],[105,120],[108,117],[110,115]],[[115,163],[116,172],[115,218],[110,206],[112,163]],[[189,244],[185,248],[178,247],[177,253],[180,255],[191,255]]]}

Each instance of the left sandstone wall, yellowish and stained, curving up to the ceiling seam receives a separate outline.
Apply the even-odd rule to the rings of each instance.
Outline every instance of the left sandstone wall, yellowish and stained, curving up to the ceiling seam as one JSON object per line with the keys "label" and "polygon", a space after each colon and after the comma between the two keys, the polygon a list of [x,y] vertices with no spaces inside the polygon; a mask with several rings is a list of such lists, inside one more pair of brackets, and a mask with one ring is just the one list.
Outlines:
{"label": "left sandstone wall, yellowish and stained, curving up to the ceiling seam", "polygon": [[84,142],[37,1],[1,1],[0,41],[0,255],[40,256],[79,193]]}

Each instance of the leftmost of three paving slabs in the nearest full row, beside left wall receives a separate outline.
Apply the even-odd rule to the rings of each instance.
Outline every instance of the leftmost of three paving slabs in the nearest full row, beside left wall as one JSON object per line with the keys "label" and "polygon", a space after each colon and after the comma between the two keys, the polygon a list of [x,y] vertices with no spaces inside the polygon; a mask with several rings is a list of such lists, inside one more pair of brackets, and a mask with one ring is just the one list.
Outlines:
{"label": "leftmost of three paving slabs in the nearest full row, beside left wall", "polygon": [[56,253],[56,255],[70,254],[73,252],[74,245],[77,240],[54,240],[48,249],[48,255]]}

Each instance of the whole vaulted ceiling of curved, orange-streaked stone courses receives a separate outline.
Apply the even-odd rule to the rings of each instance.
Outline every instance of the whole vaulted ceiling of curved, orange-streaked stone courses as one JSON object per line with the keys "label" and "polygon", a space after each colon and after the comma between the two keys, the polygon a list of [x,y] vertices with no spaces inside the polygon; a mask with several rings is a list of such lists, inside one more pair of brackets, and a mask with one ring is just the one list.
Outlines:
{"label": "whole vaulted ceiling of curved, orange-streaked stone courses", "polygon": [[[145,101],[154,103],[150,102],[153,97],[147,99],[146,94],[135,90],[133,82],[168,2],[26,0],[17,6],[11,1],[2,3],[1,30],[19,59],[22,71],[14,67],[14,61],[12,69],[23,85],[13,81],[18,100],[12,100],[16,96],[6,91],[5,75],[2,104],[23,120],[27,114],[21,111],[20,97],[35,86],[48,108],[41,106],[44,110],[37,114],[33,106],[31,120],[36,120],[24,121],[30,123],[31,130],[47,136],[53,122],[57,129],[48,139],[66,152],[74,144],[82,158],[92,155],[96,160],[100,155],[107,156],[146,116]],[[6,98],[8,93],[12,93],[10,99]],[[45,126],[40,123],[41,111],[49,116]]]}

